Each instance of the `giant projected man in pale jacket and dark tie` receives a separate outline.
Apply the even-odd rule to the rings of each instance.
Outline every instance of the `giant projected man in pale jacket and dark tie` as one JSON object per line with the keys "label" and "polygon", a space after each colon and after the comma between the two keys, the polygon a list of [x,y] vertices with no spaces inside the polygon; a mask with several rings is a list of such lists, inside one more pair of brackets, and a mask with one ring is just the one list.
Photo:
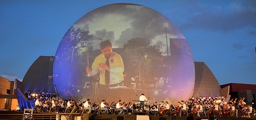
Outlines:
{"label": "giant projected man in pale jacket and dark tie", "polygon": [[101,85],[110,85],[110,87],[122,86],[124,80],[124,63],[120,54],[112,51],[110,40],[100,43],[102,54],[98,55],[92,66],[87,65],[86,72],[89,75],[100,73]]}

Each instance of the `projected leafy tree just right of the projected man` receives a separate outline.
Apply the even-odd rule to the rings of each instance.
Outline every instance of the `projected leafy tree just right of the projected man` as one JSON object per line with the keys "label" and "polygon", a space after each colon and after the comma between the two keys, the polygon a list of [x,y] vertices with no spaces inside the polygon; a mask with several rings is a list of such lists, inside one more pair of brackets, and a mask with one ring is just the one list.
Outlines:
{"label": "projected leafy tree just right of the projected man", "polygon": [[[132,38],[124,44],[124,64],[127,76],[141,77],[141,82],[154,82],[153,78],[159,73],[154,72],[160,69],[162,53],[151,45],[151,41],[145,38]],[[140,74],[139,74],[140,73]],[[139,76],[140,75],[140,76]]]}

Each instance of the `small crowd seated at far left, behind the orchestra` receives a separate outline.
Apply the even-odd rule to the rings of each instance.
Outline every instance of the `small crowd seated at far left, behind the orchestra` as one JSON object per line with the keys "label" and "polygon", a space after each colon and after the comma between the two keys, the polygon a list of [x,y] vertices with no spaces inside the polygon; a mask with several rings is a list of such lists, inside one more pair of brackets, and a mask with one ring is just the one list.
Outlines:
{"label": "small crowd seated at far left, behind the orchestra", "polygon": [[36,101],[36,99],[38,97],[40,97],[40,99],[42,101],[44,100],[51,100],[53,97],[56,97],[56,93],[52,93],[51,91],[30,91],[30,90],[25,90],[24,95],[26,97],[26,99],[33,100]]}

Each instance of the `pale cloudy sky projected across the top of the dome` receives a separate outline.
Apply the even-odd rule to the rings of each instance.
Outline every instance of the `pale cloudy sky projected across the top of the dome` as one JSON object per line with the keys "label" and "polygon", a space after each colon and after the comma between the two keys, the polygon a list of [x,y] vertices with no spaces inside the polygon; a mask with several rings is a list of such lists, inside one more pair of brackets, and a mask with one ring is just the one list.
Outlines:
{"label": "pale cloudy sky projected across the top of the dome", "polygon": [[[165,23],[168,27],[164,26]],[[122,47],[128,40],[136,37],[153,40],[153,43],[166,41],[166,34],[168,38],[184,38],[167,17],[144,6],[103,6],[81,17],[74,26],[88,29],[94,34],[94,40],[108,37],[114,47]],[[99,41],[95,42],[96,45]]]}

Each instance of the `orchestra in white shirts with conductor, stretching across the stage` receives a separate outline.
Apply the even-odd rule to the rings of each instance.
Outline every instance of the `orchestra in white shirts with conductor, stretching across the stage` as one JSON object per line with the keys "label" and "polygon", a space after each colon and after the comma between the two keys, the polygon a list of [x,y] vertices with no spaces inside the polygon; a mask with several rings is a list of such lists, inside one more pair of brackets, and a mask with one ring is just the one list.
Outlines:
{"label": "orchestra in white shirts with conductor, stretching across the stage", "polygon": [[[225,101],[224,96],[206,96],[206,97],[191,97],[187,101],[179,101],[169,103],[168,101],[154,102],[151,105],[146,102],[147,99],[142,94],[140,103],[126,103],[122,100],[118,102],[107,103],[106,100],[99,102],[91,102],[87,99],[84,102],[74,100],[61,100],[53,97],[42,100],[38,97],[35,106],[38,112],[76,112],[89,114],[125,114],[125,113],[144,113],[153,116],[232,116],[238,117],[238,112],[242,117],[256,117],[255,110],[252,105],[246,105],[244,98],[231,99]],[[254,111],[253,111],[254,110]]]}

